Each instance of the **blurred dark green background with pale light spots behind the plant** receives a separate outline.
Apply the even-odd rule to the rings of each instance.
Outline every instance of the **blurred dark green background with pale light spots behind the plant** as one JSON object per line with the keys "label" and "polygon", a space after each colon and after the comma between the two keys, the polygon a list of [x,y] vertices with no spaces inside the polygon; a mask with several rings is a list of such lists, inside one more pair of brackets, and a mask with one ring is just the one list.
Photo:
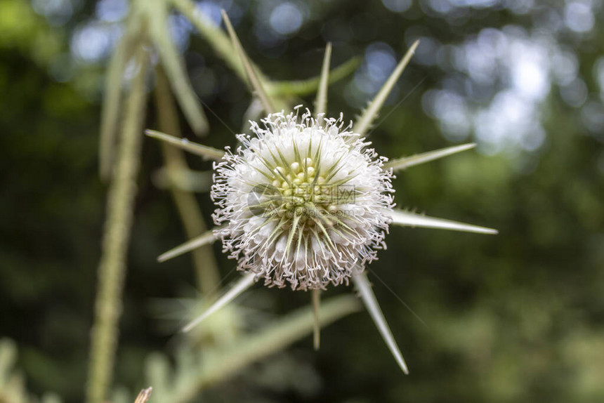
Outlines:
{"label": "blurred dark green background with pale light spots behind the plant", "polygon": [[[604,401],[601,0],[197,4],[216,24],[225,8],[273,79],[317,75],[327,41],[334,66],[359,55],[359,69],[329,92],[329,114],[346,119],[420,39],[371,133],[376,150],[478,148],[398,174],[395,201],[500,231],[391,229],[369,279],[409,376],[362,311],[324,329],[319,352],[307,337],[267,359],[286,360],[291,374],[254,364],[204,401]],[[97,164],[103,73],[128,8],[125,0],[0,1],[0,337],[18,343],[32,392],[67,402],[80,401],[86,380],[107,190]],[[249,91],[181,15],[169,29],[207,105],[203,142],[234,145],[229,128],[246,128]],[[157,127],[154,113],[150,105],[147,127]],[[176,328],[157,319],[157,298],[195,296],[190,258],[155,260],[185,240],[169,193],[152,182],[161,161],[157,142],[145,139],[115,376],[132,389],[146,386],[148,353],[173,345]],[[209,220],[208,195],[198,199]],[[215,251],[228,284],[234,263]],[[273,318],[308,299],[256,286],[241,304],[251,317]],[[235,394],[242,379],[251,381]]]}

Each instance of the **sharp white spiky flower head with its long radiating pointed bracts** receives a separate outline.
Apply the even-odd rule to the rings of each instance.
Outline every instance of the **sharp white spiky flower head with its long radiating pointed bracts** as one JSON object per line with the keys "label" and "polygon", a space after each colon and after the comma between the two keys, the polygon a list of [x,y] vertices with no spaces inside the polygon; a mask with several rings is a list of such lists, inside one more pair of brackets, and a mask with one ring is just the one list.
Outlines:
{"label": "sharp white spiky flower head with its long radiating pointed bracts", "polygon": [[[224,12],[223,18],[254,93],[266,111],[274,111],[270,94]],[[220,226],[163,253],[158,260],[168,260],[221,238],[223,249],[246,272],[183,331],[223,308],[258,279],[264,279],[268,286],[312,290],[314,342],[318,348],[319,292],[329,284],[348,284],[352,279],[390,352],[407,373],[407,364],[365,272],[367,263],[376,259],[377,249],[386,247],[383,239],[389,225],[497,233],[490,228],[393,208],[393,172],[475,146],[457,145],[388,161],[365,142],[369,127],[417,45],[415,42],[409,48],[354,125],[344,126],[341,114],[339,119],[325,118],[331,55],[328,44],[314,117],[308,110],[300,116],[299,107],[294,108],[295,114],[269,113],[261,119],[263,127],[251,122],[254,136],[237,136],[242,145],[235,152],[147,131],[149,136],[217,161],[211,196],[218,205],[214,220]]]}

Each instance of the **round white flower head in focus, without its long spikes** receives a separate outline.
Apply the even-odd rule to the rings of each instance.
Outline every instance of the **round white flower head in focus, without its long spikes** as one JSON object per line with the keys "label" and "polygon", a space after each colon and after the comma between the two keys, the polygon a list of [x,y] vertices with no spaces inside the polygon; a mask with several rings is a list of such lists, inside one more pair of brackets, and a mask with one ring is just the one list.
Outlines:
{"label": "round white flower head in focus, without its long spikes", "polygon": [[393,208],[383,169],[343,118],[269,114],[214,166],[216,230],[238,268],[268,286],[348,284],[383,249]]}

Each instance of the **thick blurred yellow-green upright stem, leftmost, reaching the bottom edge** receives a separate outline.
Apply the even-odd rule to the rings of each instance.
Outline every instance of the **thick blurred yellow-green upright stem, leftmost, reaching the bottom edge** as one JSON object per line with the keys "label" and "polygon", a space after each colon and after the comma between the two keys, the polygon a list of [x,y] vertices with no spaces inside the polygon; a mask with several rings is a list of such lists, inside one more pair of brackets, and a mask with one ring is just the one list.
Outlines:
{"label": "thick blurred yellow-green upright stem, leftmost, reaching the bottom edge", "polygon": [[133,220],[136,176],[140,162],[145,117],[145,77],[148,55],[142,44],[136,50],[138,73],[133,78],[126,100],[122,140],[110,184],[103,254],[98,267],[98,291],[91,331],[91,357],[86,401],[103,403],[112,381],[117,350],[118,322],[122,313],[122,289],[126,272],[126,253]]}

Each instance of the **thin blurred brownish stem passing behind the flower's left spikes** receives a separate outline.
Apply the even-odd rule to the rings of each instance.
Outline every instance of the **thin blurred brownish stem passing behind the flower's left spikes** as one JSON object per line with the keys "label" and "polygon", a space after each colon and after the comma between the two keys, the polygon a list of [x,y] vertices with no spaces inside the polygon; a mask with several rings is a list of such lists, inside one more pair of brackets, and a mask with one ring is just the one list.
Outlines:
{"label": "thin blurred brownish stem passing behind the flower's left spikes", "polygon": [[[156,72],[155,106],[157,108],[159,129],[166,133],[171,133],[173,136],[181,137],[182,134],[178,125],[178,112],[176,111],[168,79],[161,67],[158,67]],[[171,174],[176,175],[178,172],[189,169],[184,153],[178,150],[178,148],[162,142],[162,152],[169,177],[171,177]],[[178,189],[178,187],[173,185],[171,185],[170,191],[180,215],[180,220],[182,220],[185,227],[187,237],[191,239],[206,232],[207,227],[204,216],[199,209],[195,195]],[[204,296],[209,297],[209,294],[216,291],[218,282],[220,281],[218,264],[216,263],[211,244],[201,246],[192,251],[192,259],[197,274],[197,286]]]}

